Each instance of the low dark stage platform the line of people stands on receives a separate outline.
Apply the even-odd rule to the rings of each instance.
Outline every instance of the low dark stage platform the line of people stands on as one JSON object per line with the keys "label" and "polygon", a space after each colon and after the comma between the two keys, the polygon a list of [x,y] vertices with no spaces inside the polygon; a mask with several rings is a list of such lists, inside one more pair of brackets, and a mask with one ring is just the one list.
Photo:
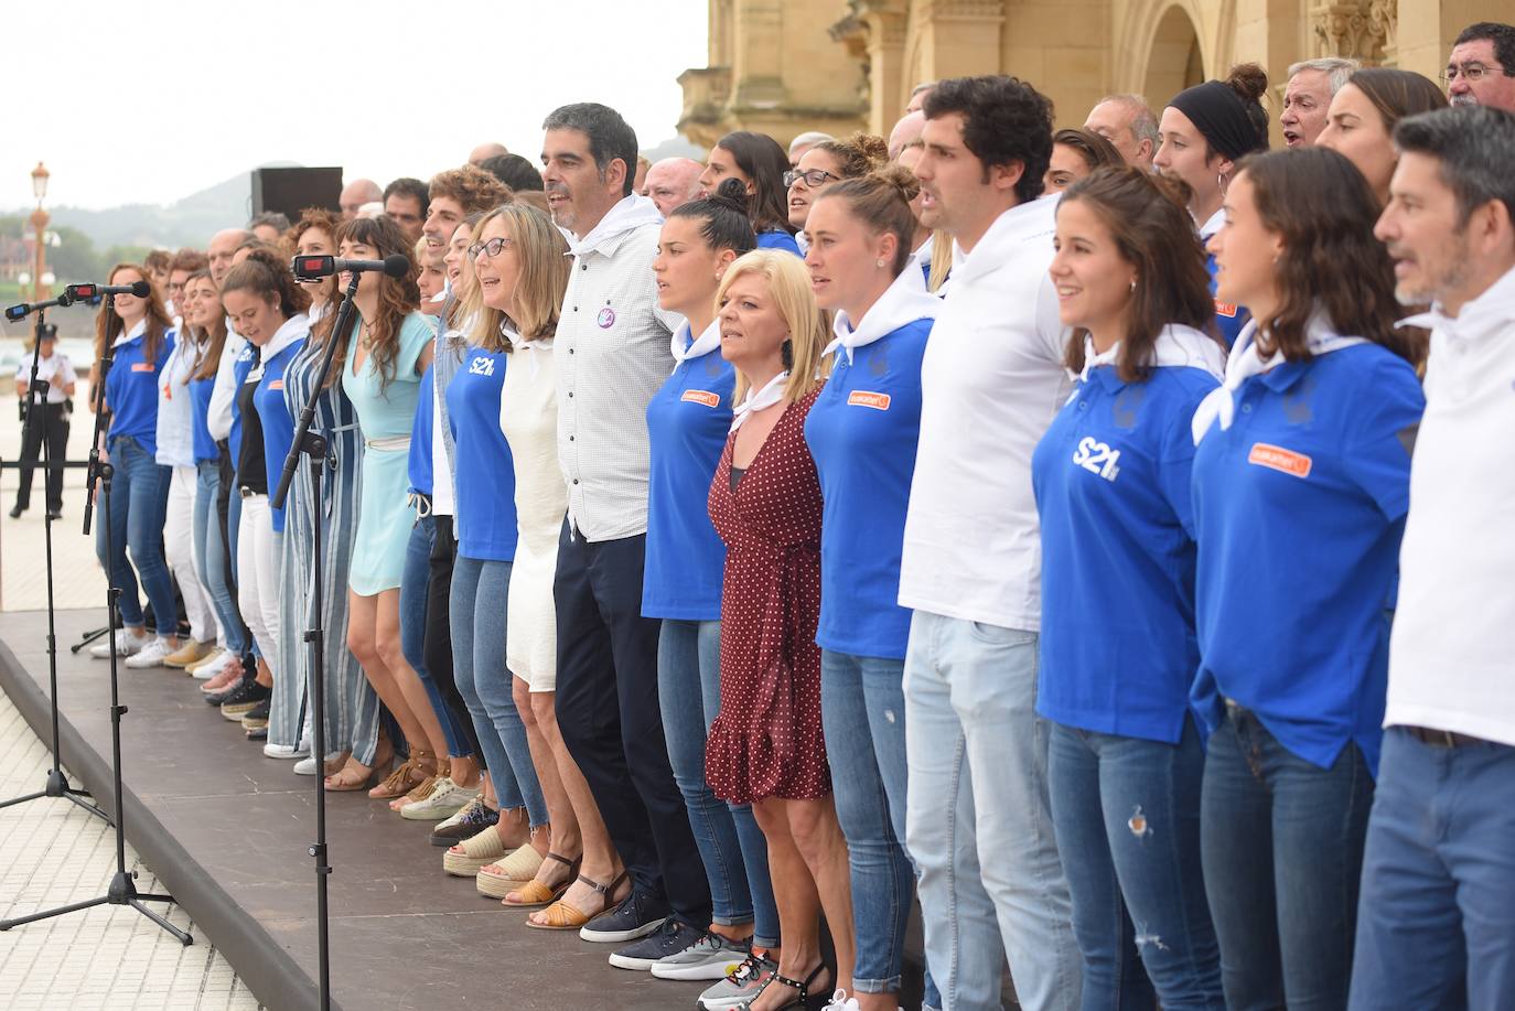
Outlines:
{"label": "low dark stage platform the line of people stands on", "polygon": [[[68,652],[103,614],[59,612],[58,682],[64,764],[109,809],[106,661]],[[50,740],[45,647],[45,612],[0,614],[0,687]],[[264,1006],[315,1008],[315,861],[306,852],[315,781],[264,758],[205,705],[198,684],[167,668],[121,668],[127,838],[195,922],[195,943],[209,935]],[[694,1008],[708,985],[614,969],[614,946],[527,929],[524,912],[442,873],[430,823],[405,822],[364,793],[327,794],[326,811],[332,996],[344,1011],[667,1011]],[[47,925],[17,928],[27,929]]]}

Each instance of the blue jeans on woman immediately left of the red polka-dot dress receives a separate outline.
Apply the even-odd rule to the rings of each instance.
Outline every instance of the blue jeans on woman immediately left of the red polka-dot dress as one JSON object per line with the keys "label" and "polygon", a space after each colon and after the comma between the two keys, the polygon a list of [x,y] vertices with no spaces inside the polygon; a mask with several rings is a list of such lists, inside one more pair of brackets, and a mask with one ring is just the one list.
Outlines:
{"label": "blue jeans on woman immediately left of the red polka-dot dress", "polygon": [[727,805],[704,782],[704,738],[721,709],[721,623],[664,618],[658,634],[658,700],[673,778],[711,881],[712,922],[753,925],[753,943],[779,946],[779,906],[768,843],[751,805]]}

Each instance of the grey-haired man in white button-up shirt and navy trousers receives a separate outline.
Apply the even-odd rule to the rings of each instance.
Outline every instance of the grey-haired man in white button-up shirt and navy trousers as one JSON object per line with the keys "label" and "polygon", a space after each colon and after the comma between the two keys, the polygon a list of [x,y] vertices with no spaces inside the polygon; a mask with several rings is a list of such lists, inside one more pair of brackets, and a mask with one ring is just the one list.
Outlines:
{"label": "grey-haired man in white button-up shirt and navy trousers", "polygon": [[[662,215],[632,192],[636,133],[615,109],[567,105],[542,129],[547,205],[573,255],[553,341],[558,461],[568,487],[553,587],[558,726],[632,878],[626,900],[611,902],[580,937],[645,937],[611,964],[650,969],[692,947],[711,923],[704,864],[664,741],[659,623],[641,612],[647,403],[674,367],[673,320],[658,308],[651,271]],[[588,865],[583,876],[612,879]]]}

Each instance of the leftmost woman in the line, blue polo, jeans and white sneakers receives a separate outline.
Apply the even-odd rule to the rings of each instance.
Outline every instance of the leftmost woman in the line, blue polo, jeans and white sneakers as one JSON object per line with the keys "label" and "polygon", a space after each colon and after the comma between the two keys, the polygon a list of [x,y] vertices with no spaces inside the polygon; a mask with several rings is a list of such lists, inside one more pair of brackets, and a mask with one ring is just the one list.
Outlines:
{"label": "leftmost woman in the line, blue polo, jeans and white sneakers", "polygon": [[[138,280],[147,280],[145,267],[117,264],[106,283],[130,285]],[[92,390],[98,391],[91,397],[91,405],[95,411],[111,411],[111,427],[105,437],[105,449],[114,467],[111,552],[106,553],[106,514],[102,511],[102,521],[95,523],[95,553],[111,576],[111,585],[121,591],[117,608],[121,611],[123,629],[120,635],[112,634],[105,643],[91,647],[89,653],[106,658],[111,655],[111,643],[115,643],[117,656],[133,656],[152,647],[161,661],[179,649],[179,605],[164,561],[164,518],[168,512],[173,468],[158,462],[158,385],[174,352],[174,330],[156,288],[147,297],[118,294],[114,305],[115,312],[102,309],[95,318],[95,361],[103,358],[108,344],[114,349],[114,358],[105,385],[91,382]],[[97,379],[97,370],[98,365],[91,380]],[[138,576],[158,623],[153,638],[148,638],[142,623]]]}

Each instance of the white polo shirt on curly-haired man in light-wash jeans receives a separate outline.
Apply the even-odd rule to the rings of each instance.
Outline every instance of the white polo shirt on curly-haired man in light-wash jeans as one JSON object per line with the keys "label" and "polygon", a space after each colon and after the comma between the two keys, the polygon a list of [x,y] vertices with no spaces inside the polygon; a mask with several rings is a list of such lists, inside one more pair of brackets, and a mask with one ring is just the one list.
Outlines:
{"label": "white polo shirt on curly-haired man in light-wash jeans", "polygon": [[1032,450],[1068,399],[1047,268],[1057,197],[1006,211],[968,255],[921,362],[900,606],[1041,629]]}

